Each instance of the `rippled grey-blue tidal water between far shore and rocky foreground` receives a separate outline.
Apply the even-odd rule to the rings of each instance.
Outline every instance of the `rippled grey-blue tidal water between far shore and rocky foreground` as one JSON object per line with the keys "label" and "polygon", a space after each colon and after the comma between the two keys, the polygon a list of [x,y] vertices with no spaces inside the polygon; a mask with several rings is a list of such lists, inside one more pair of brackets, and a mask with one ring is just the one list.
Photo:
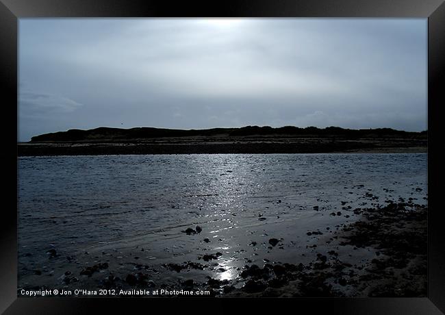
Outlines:
{"label": "rippled grey-blue tidal water between far shore and rocky foreground", "polygon": [[[427,204],[427,154],[20,157],[18,285],[67,285],[69,271],[94,287],[110,270],[125,279],[141,264],[171,286],[237,281],[246,263],[313,260],[329,250],[332,231],[359,217],[355,208],[400,198]],[[196,226],[202,231],[184,233]],[[222,255],[203,260],[214,253]],[[109,268],[79,275],[101,262]],[[183,262],[208,267],[164,267]]]}

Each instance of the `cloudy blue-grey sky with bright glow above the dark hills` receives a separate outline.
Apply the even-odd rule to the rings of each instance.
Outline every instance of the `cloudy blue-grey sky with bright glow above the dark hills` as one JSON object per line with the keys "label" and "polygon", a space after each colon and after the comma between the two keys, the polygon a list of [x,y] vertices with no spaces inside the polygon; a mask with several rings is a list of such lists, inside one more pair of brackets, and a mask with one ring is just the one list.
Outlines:
{"label": "cloudy blue-grey sky with bright glow above the dark hills", "polygon": [[21,18],[18,141],[68,129],[427,129],[427,19]]}

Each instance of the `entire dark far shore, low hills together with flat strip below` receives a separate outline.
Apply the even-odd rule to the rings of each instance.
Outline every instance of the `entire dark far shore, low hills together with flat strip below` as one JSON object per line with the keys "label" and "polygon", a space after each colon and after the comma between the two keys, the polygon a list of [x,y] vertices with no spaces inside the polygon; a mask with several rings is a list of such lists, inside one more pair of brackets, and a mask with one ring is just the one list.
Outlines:
{"label": "entire dark far shore, low hills together with flat strip below", "polygon": [[427,131],[340,127],[70,129],[18,143],[18,156],[268,153],[426,153]]}

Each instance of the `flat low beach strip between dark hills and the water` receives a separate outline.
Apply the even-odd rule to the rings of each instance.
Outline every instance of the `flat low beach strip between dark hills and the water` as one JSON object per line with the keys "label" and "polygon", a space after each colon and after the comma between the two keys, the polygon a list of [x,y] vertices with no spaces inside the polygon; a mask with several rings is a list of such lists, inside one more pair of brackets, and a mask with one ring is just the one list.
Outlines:
{"label": "flat low beach strip between dark hills and the water", "polygon": [[136,155],[217,153],[427,153],[426,140],[326,140],[302,139],[249,142],[33,142],[19,143],[18,156]]}

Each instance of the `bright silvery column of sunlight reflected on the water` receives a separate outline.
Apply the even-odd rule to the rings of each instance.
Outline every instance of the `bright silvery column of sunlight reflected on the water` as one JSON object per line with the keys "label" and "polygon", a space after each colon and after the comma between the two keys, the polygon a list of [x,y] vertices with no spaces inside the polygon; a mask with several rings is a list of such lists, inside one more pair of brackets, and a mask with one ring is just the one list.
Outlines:
{"label": "bright silvery column of sunlight reflected on the water", "polygon": [[[212,23],[225,24],[226,20],[213,21]],[[231,21],[227,21],[227,26]],[[203,155],[200,160],[194,162],[197,180],[203,183],[199,192],[203,195],[204,207],[208,211],[205,218],[212,222],[207,227],[211,244],[217,244],[212,252],[223,253],[224,260],[218,260],[218,266],[214,267],[213,277],[218,280],[233,280],[240,273],[243,261],[240,260],[236,250],[240,249],[235,229],[239,229],[240,218],[246,217],[249,197],[255,187],[251,185],[251,168],[244,163],[244,156],[232,155]],[[209,167],[211,165],[211,167]],[[237,270],[238,268],[238,270]]]}

